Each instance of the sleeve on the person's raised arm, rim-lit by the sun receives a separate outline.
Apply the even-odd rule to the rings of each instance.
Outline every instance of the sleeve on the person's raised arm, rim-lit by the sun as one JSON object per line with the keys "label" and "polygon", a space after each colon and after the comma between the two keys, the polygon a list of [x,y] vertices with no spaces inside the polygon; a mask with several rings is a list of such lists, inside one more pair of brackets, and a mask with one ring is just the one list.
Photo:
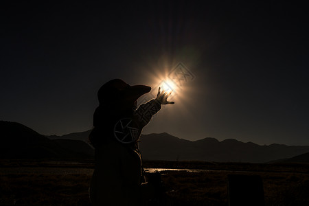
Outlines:
{"label": "sleeve on the person's raised arm, rim-lit by the sun", "polygon": [[149,102],[141,104],[139,108],[135,111],[135,119],[139,122],[140,128],[144,128],[159,110],[161,109],[161,104],[158,100],[152,99]]}

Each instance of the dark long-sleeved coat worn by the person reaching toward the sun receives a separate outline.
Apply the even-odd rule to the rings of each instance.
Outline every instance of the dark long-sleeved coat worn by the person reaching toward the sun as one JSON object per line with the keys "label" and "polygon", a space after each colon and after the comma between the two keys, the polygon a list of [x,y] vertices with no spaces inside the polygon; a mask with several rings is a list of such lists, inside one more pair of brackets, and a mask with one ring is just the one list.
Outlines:
{"label": "dark long-sleeved coat worn by the person reaching toward the sun", "polygon": [[[133,111],[131,117],[139,124],[138,135],[150,122],[152,115],[160,109],[161,104],[157,100],[150,100]],[[99,110],[104,111],[102,108]],[[141,153],[137,142],[122,144],[112,133],[117,119],[128,116],[128,113],[112,111],[109,116],[108,113],[105,114],[115,118],[108,118],[101,122],[94,121],[92,135],[101,135],[100,138],[104,141],[95,147],[95,170],[89,188],[92,205],[143,205],[150,196],[152,189],[147,184],[143,184]],[[98,113],[96,115],[100,116]],[[101,127],[98,122],[102,124]]]}

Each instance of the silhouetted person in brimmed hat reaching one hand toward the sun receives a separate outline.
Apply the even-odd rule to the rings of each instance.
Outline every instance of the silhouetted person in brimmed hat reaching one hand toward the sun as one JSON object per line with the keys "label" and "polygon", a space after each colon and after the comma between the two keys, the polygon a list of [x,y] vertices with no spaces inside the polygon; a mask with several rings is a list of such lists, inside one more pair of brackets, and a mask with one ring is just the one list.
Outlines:
{"label": "silhouetted person in brimmed hat reaching one hand toward the sun", "polygon": [[92,205],[144,205],[154,189],[143,183],[141,130],[150,122],[170,93],[159,91],[157,98],[137,108],[137,99],[148,93],[145,85],[130,86],[123,80],[106,82],[98,91],[99,106],[93,115],[89,141],[95,148],[95,170],[89,187]]}

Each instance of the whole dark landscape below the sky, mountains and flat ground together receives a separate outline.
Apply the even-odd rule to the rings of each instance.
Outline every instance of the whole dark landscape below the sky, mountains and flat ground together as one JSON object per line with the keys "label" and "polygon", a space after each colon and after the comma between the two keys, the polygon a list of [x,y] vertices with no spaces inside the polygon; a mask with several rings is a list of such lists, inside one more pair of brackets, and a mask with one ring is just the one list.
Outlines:
{"label": "whole dark landscape below the sky, mountains and flat ground together", "polygon": [[[0,130],[0,204],[89,204],[94,168],[90,131],[46,137],[5,121]],[[228,174],[260,175],[266,205],[309,203],[308,146],[187,141],[161,133],[142,135],[140,148],[146,172],[158,168],[163,174],[170,205],[227,205]]]}

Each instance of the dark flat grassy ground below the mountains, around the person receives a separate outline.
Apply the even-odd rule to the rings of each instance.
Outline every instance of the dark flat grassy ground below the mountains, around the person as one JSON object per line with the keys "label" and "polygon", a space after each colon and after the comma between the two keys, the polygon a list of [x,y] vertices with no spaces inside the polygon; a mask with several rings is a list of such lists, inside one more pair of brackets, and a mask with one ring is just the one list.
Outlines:
{"label": "dark flat grassy ground below the mountains, around the person", "polygon": [[[266,205],[309,205],[309,165],[145,161],[161,171],[169,205],[227,205],[228,174],[262,177]],[[89,205],[91,161],[0,161],[0,205]],[[27,172],[26,172],[27,171]]]}

